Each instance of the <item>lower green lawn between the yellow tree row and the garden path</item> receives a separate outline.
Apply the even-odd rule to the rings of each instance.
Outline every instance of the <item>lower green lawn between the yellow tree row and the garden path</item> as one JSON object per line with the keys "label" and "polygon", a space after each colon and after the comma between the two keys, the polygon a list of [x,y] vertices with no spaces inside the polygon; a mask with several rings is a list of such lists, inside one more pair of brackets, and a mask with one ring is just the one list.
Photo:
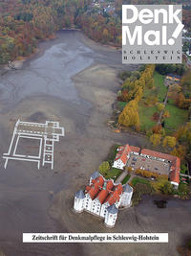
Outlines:
{"label": "lower green lawn between the yellow tree row and the garden path", "polygon": [[140,130],[148,130],[156,125],[156,122],[152,120],[153,114],[157,112],[157,106],[144,106],[143,102],[140,101],[138,105],[138,115],[140,122]]}

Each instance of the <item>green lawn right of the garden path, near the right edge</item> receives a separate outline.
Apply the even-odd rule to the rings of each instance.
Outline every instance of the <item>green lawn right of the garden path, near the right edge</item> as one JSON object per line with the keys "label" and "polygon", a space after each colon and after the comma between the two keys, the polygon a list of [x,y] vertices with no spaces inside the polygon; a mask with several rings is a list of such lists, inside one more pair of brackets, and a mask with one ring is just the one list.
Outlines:
{"label": "green lawn right of the garden path, near the right edge", "polygon": [[186,122],[188,116],[187,110],[169,104],[166,105],[165,109],[170,113],[170,117],[165,119],[166,126],[177,129]]}

